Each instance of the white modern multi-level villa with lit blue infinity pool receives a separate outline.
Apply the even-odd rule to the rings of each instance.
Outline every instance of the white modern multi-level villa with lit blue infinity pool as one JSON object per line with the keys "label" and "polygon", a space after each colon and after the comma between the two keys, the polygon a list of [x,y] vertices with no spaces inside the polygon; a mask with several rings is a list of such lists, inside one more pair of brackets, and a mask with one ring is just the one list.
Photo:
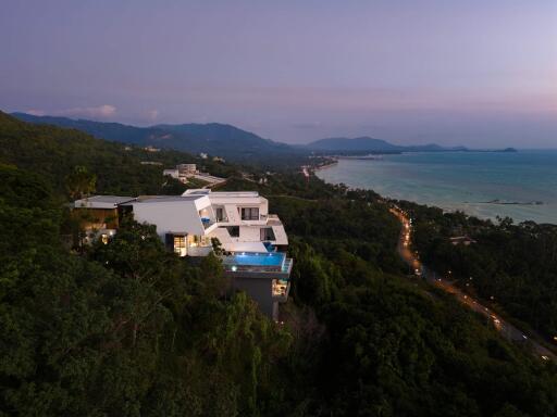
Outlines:
{"label": "white modern multi-level villa with lit blue infinity pool", "polygon": [[216,238],[233,287],[246,291],[263,313],[277,319],[278,304],[288,298],[293,265],[285,253],[288,237],[258,192],[196,189],[182,195],[95,195],[76,201],[74,208],[98,213],[94,225],[102,237],[115,232],[113,218],[132,211],[135,220],[157,226],[161,240],[178,256],[207,256]]}

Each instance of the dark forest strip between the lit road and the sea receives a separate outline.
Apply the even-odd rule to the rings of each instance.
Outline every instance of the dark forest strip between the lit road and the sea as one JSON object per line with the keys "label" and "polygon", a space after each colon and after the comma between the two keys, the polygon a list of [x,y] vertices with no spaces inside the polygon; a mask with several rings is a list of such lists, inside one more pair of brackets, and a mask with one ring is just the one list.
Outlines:
{"label": "dark forest strip between the lit road and the sea", "polygon": [[[416,244],[426,264],[446,276],[450,270],[465,290],[557,341],[557,226],[515,225],[510,218],[493,223],[401,204],[414,219]],[[473,242],[451,244],[456,236]]]}

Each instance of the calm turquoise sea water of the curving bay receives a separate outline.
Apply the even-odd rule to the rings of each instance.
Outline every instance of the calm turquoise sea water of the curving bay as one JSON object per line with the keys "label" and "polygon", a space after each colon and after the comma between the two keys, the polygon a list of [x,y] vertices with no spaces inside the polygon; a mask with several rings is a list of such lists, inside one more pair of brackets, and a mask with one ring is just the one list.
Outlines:
{"label": "calm turquoise sea water of the curving bay", "polygon": [[317,174],[327,182],[482,218],[557,224],[557,151],[405,153],[341,160]]}

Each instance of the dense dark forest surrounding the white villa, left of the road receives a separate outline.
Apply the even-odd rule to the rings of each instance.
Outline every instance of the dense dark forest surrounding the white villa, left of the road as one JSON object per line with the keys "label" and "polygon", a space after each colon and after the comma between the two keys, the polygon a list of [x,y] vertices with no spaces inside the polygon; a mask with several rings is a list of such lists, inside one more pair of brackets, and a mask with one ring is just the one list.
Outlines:
{"label": "dense dark forest surrounding the white villa, left of the road", "polygon": [[399,225],[371,191],[211,170],[259,190],[286,225],[293,291],[275,324],[230,293],[218,258],[178,258],[152,226],[127,219],[83,252],[62,243],[76,166],[99,193],[170,192],[139,162],[186,154],[8,116],[0,143],[0,415],[557,414],[556,366],[408,279]]}

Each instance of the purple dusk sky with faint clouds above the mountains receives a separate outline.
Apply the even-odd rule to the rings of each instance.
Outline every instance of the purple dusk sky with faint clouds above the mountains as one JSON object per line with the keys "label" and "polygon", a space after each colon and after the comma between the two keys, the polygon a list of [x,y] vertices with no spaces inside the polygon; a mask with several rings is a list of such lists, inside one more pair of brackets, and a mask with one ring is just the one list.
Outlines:
{"label": "purple dusk sky with faint clouds above the mountains", "polygon": [[0,109],[557,148],[556,0],[2,2]]}

